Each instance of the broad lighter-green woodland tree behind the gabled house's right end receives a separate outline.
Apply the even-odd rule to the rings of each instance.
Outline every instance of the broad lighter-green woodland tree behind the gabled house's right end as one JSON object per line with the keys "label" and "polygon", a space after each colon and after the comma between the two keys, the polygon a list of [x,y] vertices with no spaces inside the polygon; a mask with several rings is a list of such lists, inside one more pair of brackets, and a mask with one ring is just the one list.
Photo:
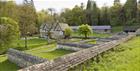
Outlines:
{"label": "broad lighter-green woodland tree behind the gabled house's right end", "polygon": [[83,9],[83,5],[76,5],[72,10],[65,9],[64,12],[61,13],[61,17],[65,18],[66,23],[72,26],[81,25],[81,23],[86,23],[86,14]]}

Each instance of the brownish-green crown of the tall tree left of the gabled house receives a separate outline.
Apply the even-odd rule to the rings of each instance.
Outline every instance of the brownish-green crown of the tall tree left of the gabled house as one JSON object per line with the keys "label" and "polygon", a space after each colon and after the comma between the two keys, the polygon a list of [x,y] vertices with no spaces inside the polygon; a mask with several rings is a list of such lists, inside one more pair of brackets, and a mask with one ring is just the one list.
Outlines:
{"label": "brownish-green crown of the tall tree left of the gabled house", "polygon": [[33,11],[33,7],[25,4],[20,5],[19,12],[18,19],[21,35],[25,37],[27,36],[27,33],[30,35],[36,33],[36,15]]}

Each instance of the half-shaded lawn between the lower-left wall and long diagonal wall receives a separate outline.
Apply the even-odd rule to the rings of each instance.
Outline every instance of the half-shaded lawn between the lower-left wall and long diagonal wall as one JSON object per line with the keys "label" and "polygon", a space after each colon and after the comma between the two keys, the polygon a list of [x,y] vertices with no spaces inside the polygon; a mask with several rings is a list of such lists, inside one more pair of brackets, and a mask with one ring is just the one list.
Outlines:
{"label": "half-shaded lawn between the lower-left wall and long diagonal wall", "polygon": [[48,60],[55,59],[57,57],[63,56],[65,54],[72,53],[73,51],[68,51],[68,50],[62,50],[62,49],[56,49],[55,44],[51,44],[48,46],[43,46],[39,48],[35,48],[32,50],[27,50],[26,53],[46,58]]}

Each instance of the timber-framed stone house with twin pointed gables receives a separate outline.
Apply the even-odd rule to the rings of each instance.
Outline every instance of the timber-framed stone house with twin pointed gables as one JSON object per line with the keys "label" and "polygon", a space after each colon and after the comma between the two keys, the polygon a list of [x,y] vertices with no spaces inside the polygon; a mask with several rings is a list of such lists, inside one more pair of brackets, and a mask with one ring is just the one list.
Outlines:
{"label": "timber-framed stone house with twin pointed gables", "polygon": [[66,23],[42,24],[40,27],[40,37],[48,38],[48,31],[50,31],[52,38],[63,38],[64,31],[68,27]]}

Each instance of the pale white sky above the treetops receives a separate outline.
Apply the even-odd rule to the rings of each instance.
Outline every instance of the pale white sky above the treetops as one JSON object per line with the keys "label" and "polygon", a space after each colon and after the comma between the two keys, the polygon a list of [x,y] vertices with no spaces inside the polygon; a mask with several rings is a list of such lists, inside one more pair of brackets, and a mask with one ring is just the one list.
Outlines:
{"label": "pale white sky above the treetops", "polygon": [[[47,8],[55,8],[56,12],[61,12],[64,8],[72,9],[75,5],[80,5],[84,3],[86,6],[88,0],[34,0],[34,4],[37,11]],[[102,7],[103,5],[112,6],[114,0],[94,0],[96,1],[98,7]],[[120,0],[122,4],[126,2],[126,0]],[[20,4],[23,0],[16,0],[16,3]]]}

